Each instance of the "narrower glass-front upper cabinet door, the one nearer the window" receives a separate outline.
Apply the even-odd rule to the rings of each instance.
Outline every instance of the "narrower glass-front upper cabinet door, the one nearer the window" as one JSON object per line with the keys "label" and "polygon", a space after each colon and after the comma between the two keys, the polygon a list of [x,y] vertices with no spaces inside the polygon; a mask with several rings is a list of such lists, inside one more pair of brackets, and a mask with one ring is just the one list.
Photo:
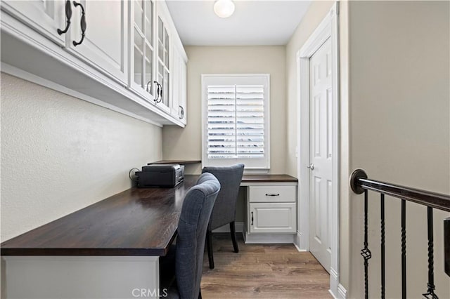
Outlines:
{"label": "narrower glass-front upper cabinet door, the one nearer the window", "polygon": [[166,112],[170,112],[170,98],[171,90],[170,84],[172,84],[170,74],[170,38],[167,32],[167,26],[164,15],[158,13],[158,58],[157,58],[157,74],[156,81],[160,84],[161,98],[158,101],[161,109]]}

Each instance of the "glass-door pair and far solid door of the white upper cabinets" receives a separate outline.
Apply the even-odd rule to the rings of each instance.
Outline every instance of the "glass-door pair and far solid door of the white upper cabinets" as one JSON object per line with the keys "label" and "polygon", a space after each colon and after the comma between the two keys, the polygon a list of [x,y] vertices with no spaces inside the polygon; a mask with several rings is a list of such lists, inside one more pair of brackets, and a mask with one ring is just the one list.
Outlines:
{"label": "glass-door pair and far solid door of the white upper cabinets", "polygon": [[[129,88],[179,124],[186,124],[186,53],[165,1],[130,5]],[[184,81],[184,84],[182,82]]]}

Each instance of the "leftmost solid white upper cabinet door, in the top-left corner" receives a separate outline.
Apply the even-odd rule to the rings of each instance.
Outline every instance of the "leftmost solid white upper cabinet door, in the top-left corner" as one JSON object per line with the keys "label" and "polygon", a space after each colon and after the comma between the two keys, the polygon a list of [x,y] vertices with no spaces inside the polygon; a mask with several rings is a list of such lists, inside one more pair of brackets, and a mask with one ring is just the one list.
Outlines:
{"label": "leftmost solid white upper cabinet door, in the top-left corner", "polygon": [[[65,46],[65,34],[58,34],[58,29],[64,29],[66,25],[65,4],[66,1],[63,0],[7,0],[1,1],[1,10],[18,18],[56,44]],[[70,9],[73,11],[73,6]]]}

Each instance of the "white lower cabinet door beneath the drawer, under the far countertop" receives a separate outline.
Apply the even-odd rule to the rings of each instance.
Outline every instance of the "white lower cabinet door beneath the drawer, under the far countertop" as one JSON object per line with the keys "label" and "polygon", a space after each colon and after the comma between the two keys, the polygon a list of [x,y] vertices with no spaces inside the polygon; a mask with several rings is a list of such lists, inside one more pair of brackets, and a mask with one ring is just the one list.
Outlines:
{"label": "white lower cabinet door beneath the drawer, under the far countertop", "polygon": [[295,233],[295,203],[250,203],[250,233]]}

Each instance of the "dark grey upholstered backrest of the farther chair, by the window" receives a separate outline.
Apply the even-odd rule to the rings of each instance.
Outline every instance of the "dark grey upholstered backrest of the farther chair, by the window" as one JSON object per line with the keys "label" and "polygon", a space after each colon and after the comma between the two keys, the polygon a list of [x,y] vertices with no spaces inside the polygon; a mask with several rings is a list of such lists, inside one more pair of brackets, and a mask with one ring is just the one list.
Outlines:
{"label": "dark grey upholstered backrest of the farther chair, by the window", "polygon": [[204,167],[202,173],[212,173],[221,186],[208,226],[208,230],[215,230],[236,218],[236,201],[244,173],[244,164]]}

